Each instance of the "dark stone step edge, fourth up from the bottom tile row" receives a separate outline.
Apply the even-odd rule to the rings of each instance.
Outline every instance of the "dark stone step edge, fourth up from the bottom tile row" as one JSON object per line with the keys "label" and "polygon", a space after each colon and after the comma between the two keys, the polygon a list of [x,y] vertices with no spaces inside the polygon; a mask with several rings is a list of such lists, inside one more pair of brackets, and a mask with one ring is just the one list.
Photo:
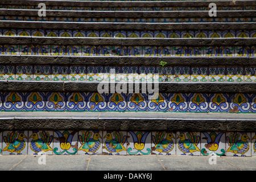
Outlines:
{"label": "dark stone step edge, fourth up from the bottom tile row", "polygon": [[48,38],[0,36],[2,45],[67,46],[255,46],[254,38]]}

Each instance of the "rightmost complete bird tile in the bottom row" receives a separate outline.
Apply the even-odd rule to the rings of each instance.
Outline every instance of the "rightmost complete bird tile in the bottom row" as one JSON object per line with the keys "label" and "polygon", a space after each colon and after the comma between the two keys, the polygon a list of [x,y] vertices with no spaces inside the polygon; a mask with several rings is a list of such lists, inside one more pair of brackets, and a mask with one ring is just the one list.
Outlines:
{"label": "rightmost complete bird tile in the bottom row", "polygon": [[226,156],[251,156],[251,133],[226,133]]}

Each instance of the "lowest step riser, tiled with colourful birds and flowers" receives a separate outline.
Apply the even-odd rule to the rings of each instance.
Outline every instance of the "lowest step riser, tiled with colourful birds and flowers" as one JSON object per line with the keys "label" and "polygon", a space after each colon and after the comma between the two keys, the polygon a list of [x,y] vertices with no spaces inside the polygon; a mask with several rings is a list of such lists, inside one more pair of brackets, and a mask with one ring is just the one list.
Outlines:
{"label": "lowest step riser, tiled with colourful birds and flowers", "polygon": [[[23,150],[16,152],[8,150],[10,143],[7,135],[14,134],[15,138],[21,137],[21,144],[24,144]],[[39,152],[46,152],[47,155],[80,155],[80,154],[98,154],[98,155],[195,155],[195,156],[256,156],[255,135],[256,133],[236,133],[236,132],[158,132],[158,131],[2,131],[0,137],[0,148],[2,155],[35,155]],[[37,139],[49,139],[47,147],[49,150],[43,151],[38,148]],[[65,137],[64,137],[65,136]],[[88,138],[87,138],[88,137]],[[118,138],[119,137],[119,138]],[[142,138],[141,138],[142,137]],[[195,150],[184,148],[184,140],[189,140]],[[213,141],[210,139],[213,137]],[[215,138],[216,137],[216,138]],[[238,141],[230,143],[233,137],[246,138],[243,146],[244,152],[236,151],[231,147]],[[61,140],[64,138],[64,140]],[[69,138],[67,140],[67,138]],[[93,140],[94,139],[94,140]],[[118,140],[117,143],[116,140]],[[242,139],[243,141],[244,139]],[[89,142],[95,142],[93,147],[89,147]],[[8,143],[9,142],[9,143]],[[112,142],[113,144],[110,144]],[[213,143],[214,146],[213,146]],[[163,150],[163,144],[167,144],[169,150]],[[86,147],[87,146],[87,147]],[[119,150],[117,150],[117,147]],[[190,149],[190,150],[189,150]]]}

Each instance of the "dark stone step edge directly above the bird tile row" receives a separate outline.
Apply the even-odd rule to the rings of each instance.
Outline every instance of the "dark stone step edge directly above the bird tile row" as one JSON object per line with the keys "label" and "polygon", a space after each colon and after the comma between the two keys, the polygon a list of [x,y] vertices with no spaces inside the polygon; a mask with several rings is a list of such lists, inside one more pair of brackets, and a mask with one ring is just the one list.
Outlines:
{"label": "dark stone step edge directly above the bird tile row", "polygon": [[255,120],[0,118],[0,130],[256,131]]}

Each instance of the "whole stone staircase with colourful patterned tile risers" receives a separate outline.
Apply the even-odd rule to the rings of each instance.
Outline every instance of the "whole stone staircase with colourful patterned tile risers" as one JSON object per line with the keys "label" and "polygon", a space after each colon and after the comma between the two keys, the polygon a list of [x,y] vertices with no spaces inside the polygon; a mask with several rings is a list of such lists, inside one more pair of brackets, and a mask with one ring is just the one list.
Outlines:
{"label": "whole stone staircase with colourful patterned tile risers", "polygon": [[255,22],[256,1],[0,0],[1,155],[256,156]]}

